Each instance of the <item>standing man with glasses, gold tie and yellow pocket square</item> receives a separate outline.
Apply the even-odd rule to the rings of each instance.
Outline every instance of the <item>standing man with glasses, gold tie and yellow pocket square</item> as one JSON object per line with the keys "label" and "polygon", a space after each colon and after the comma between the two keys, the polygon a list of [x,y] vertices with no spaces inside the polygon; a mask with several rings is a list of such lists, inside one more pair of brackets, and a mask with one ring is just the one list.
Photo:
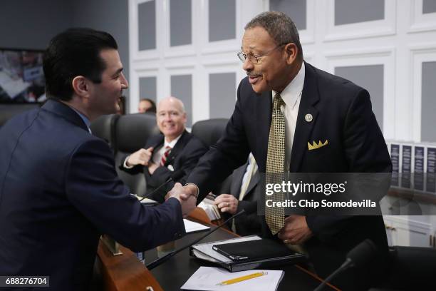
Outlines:
{"label": "standing man with glasses, gold tie and yellow pocket square", "polygon": [[[390,172],[368,91],[304,62],[289,16],[271,11],[249,21],[239,58],[248,76],[239,84],[234,113],[224,136],[188,177],[182,198],[202,200],[250,151],[260,173]],[[355,245],[373,240],[380,262],[343,274],[336,284],[344,289],[357,289],[356,282],[368,287],[371,276],[383,274],[388,244],[381,216],[281,215],[281,222],[279,215],[266,213],[265,218],[270,230],[265,234],[303,245],[321,277],[336,270]]]}

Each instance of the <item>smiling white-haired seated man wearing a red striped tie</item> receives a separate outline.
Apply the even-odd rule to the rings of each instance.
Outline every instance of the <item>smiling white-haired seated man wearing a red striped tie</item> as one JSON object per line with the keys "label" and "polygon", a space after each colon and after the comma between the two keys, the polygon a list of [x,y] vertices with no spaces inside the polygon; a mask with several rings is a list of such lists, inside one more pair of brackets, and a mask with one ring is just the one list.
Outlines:
{"label": "smiling white-haired seated man wearing a red striped tie", "polygon": [[[128,173],[144,172],[147,194],[165,183],[173,173],[180,173],[175,182],[184,183],[207,147],[185,129],[186,112],[182,101],[167,97],[157,104],[157,126],[160,134],[147,140],[144,148],[128,155],[120,169]],[[149,198],[162,203],[174,182],[157,190]],[[145,193],[138,193],[140,195]]]}

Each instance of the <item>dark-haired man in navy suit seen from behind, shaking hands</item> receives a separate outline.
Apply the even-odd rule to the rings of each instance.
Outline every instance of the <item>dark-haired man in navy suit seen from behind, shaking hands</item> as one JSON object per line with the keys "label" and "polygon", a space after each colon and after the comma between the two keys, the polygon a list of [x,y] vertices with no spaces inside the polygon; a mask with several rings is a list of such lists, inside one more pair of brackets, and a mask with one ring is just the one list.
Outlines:
{"label": "dark-haired man in navy suit seen from behind, shaking hands", "polygon": [[195,200],[141,205],[108,144],[90,134],[90,121],[115,113],[128,88],[110,34],[58,34],[43,70],[49,100],[0,129],[0,275],[50,276],[53,290],[87,290],[102,233],[134,251],[162,245],[184,235],[182,215]]}

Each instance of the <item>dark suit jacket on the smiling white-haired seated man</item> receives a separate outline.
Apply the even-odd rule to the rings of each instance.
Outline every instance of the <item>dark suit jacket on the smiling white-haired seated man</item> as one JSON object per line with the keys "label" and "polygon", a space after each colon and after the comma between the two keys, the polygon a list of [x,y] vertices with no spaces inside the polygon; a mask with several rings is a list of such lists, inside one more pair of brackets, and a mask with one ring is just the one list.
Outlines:
{"label": "dark suit jacket on the smiling white-haired seated man", "polygon": [[[150,136],[144,148],[152,147],[154,149],[153,153],[155,153],[155,151],[159,150],[164,145],[164,142],[164,136],[160,133],[156,136]],[[165,165],[158,167],[152,175],[148,172],[148,167],[142,165],[135,165],[135,167],[128,169],[124,168],[123,164],[121,164],[120,169],[133,174],[143,171],[147,182],[147,194],[150,195],[156,188],[165,183],[175,171],[182,171],[181,178],[178,178],[175,182],[184,184],[187,176],[191,173],[199,158],[206,152],[207,147],[202,141],[193,136],[192,133],[184,131],[168,155]],[[123,163],[124,160],[125,158],[122,160]],[[174,171],[168,168],[170,165]],[[160,190],[157,190],[150,198],[162,203],[165,200],[165,195],[172,189],[174,184],[174,182],[168,183],[160,188]]]}

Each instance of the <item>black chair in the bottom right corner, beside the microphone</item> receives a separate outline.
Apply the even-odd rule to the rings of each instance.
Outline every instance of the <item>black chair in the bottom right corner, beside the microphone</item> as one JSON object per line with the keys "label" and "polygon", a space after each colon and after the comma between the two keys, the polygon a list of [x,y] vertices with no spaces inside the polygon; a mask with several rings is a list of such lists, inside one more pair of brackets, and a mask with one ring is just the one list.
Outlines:
{"label": "black chair in the bottom right corner, beside the microphone", "polygon": [[386,279],[371,290],[436,290],[435,277],[436,249],[394,246]]}

